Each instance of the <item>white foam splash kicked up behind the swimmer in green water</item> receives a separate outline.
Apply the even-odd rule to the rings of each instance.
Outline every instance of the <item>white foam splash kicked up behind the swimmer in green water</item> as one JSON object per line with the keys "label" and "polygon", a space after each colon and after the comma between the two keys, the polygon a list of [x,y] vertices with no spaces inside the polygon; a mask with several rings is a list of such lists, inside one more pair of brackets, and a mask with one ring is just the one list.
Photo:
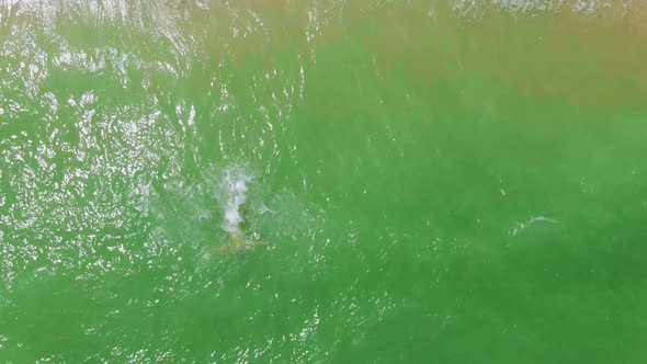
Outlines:
{"label": "white foam splash kicked up behind the swimmer in green water", "polygon": [[245,173],[240,168],[229,168],[225,170],[223,179],[223,190],[225,193],[225,216],[223,221],[223,229],[229,234],[239,234],[239,224],[242,223],[240,215],[240,206],[247,200],[247,184],[251,181],[251,177]]}

